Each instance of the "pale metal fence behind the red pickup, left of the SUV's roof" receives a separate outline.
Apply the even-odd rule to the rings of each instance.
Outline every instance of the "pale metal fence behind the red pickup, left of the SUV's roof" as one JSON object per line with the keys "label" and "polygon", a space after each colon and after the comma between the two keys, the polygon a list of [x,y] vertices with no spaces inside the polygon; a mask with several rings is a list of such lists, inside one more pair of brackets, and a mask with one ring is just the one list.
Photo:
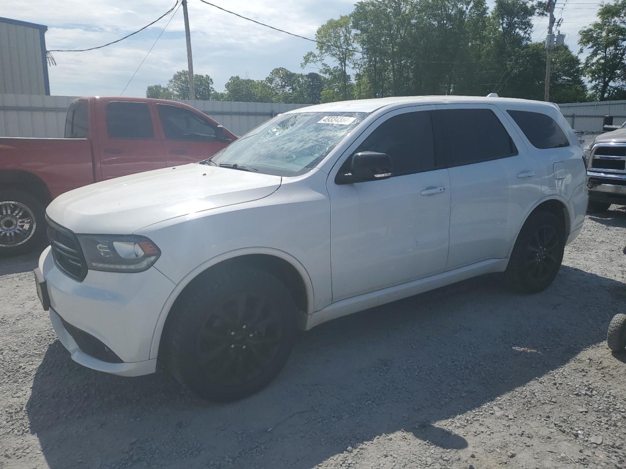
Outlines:
{"label": "pale metal fence behind the red pickup, left of the SUV's roof", "polygon": [[[0,94],[0,136],[63,137],[65,114],[74,96]],[[181,100],[200,109],[237,135],[245,134],[276,114],[308,104],[238,103]]]}

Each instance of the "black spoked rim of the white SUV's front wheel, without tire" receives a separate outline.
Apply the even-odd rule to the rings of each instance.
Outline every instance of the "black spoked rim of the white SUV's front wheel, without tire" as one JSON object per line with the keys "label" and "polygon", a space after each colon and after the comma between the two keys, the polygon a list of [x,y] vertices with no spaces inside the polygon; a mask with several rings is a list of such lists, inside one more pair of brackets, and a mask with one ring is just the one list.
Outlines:
{"label": "black spoked rim of the white SUV's front wheel, without tire", "polygon": [[198,332],[196,356],[213,383],[237,385],[274,360],[283,326],[269,296],[239,293],[213,309]]}

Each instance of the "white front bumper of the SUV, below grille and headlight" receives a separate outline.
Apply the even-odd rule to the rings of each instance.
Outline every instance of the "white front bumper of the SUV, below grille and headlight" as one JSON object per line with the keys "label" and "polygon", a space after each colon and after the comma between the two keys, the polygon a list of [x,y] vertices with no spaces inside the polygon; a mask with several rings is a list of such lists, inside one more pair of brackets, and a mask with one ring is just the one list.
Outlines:
{"label": "white front bumper of the SUV, below grille and headlight", "polygon": [[[89,271],[85,280],[76,281],[54,264],[50,248],[41,254],[39,270],[46,281],[54,331],[74,361],[123,376],[155,371],[150,346],[158,316],[175,286],[172,281],[155,268],[140,273]],[[85,337],[88,340],[81,341]],[[90,348],[94,343],[112,353],[95,353],[101,348]]]}

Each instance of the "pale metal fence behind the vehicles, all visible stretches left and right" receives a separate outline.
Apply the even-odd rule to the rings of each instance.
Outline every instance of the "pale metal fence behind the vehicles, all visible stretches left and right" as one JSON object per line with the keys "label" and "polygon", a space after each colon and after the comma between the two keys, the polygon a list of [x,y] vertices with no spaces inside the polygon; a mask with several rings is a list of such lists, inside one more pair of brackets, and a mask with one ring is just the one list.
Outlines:
{"label": "pale metal fence behind the vehicles, all visible stretches left and right", "polygon": [[[0,136],[63,137],[65,113],[74,96],[37,94],[0,94]],[[237,135],[290,109],[308,104],[238,103],[235,101],[181,100],[215,118]],[[602,117],[612,115],[615,124],[626,120],[626,101],[559,104],[561,112],[575,130],[602,132]]]}

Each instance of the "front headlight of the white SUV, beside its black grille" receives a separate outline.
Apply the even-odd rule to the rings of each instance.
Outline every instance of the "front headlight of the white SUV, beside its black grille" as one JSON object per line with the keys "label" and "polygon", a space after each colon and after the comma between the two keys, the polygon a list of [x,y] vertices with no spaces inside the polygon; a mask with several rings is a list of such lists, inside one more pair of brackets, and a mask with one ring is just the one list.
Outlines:
{"label": "front headlight of the white SUV, beside its black grille", "polygon": [[161,251],[145,236],[76,235],[87,266],[106,272],[143,272],[153,265]]}

